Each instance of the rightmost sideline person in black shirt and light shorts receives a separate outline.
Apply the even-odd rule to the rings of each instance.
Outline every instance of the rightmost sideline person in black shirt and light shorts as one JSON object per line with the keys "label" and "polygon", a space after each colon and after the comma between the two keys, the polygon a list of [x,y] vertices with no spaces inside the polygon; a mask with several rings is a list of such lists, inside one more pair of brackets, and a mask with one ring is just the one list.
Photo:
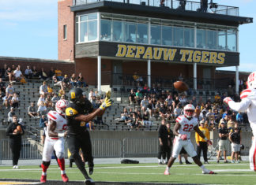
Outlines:
{"label": "rightmost sideline person in black shirt and light shorts", "polygon": [[[240,131],[239,128],[234,128],[235,132],[232,132],[229,135],[229,140],[230,142],[232,142],[232,163],[235,163],[235,161],[237,161],[237,163],[239,163],[239,151],[240,151],[240,145],[241,145],[241,135],[240,135]],[[234,161],[234,155],[235,155],[235,161]]]}

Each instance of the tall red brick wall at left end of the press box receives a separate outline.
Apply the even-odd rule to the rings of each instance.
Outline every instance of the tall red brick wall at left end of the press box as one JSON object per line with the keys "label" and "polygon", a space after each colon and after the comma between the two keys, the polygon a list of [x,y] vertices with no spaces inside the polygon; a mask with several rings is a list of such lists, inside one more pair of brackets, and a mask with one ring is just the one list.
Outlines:
{"label": "tall red brick wall at left end of the press box", "polygon": [[[58,60],[73,61],[74,58],[74,17],[70,11],[73,0],[58,0]],[[64,25],[67,37],[64,39]]]}

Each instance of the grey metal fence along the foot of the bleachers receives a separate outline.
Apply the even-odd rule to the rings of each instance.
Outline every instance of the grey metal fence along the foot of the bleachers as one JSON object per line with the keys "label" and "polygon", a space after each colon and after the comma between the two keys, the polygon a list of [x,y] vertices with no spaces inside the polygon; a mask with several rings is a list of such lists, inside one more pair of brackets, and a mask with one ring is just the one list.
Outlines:
{"label": "grey metal fence along the foot of the bleachers", "polygon": [[[194,146],[196,143],[192,140]],[[242,139],[245,149],[242,155],[248,155],[251,139]],[[216,146],[217,139],[213,140]],[[41,159],[42,152],[40,142],[32,139],[23,139],[21,149],[21,160]],[[67,157],[67,145],[66,157]],[[158,138],[126,138],[126,139],[92,139],[92,154],[96,158],[107,157],[156,157],[159,151]],[[231,154],[231,146],[228,145],[228,155]],[[9,148],[9,139],[0,140],[0,161],[12,159]],[[0,163],[1,164],[1,163]]]}

